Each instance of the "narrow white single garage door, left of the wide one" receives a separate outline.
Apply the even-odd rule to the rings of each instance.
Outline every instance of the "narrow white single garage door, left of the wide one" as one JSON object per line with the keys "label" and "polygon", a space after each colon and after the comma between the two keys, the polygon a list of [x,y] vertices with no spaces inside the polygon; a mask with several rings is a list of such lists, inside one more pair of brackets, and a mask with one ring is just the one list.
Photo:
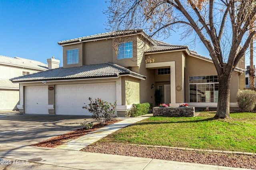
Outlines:
{"label": "narrow white single garage door, left of the wide one", "polygon": [[49,114],[48,113],[48,86],[25,87],[25,113],[26,114]]}

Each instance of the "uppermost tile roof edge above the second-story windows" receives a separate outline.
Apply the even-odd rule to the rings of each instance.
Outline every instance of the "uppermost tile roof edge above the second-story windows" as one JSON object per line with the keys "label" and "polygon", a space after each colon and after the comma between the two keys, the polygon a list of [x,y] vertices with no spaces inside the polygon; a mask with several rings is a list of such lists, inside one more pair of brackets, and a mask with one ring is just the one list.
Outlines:
{"label": "uppermost tile roof edge above the second-story windows", "polygon": [[151,39],[144,31],[143,29],[131,29],[131,30],[120,30],[120,31],[111,31],[111,32],[106,32],[106,33],[100,33],[100,34],[95,34],[95,35],[89,35],[86,37],[79,37],[75,39],[68,39],[65,41],[59,41],[59,45],[64,45],[64,44],[69,44],[69,43],[79,43],[82,41],[89,41],[89,40],[94,40],[94,39],[102,39],[102,38],[114,38],[118,36],[125,36],[125,35],[132,35],[132,34],[137,34],[141,33],[149,39],[153,44],[156,44],[156,42]]}

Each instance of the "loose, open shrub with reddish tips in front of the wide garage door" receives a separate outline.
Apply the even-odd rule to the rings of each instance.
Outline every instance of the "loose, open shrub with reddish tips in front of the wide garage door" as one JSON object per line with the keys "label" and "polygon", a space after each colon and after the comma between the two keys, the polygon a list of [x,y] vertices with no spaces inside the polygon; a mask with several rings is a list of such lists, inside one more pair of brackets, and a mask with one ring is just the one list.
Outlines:
{"label": "loose, open shrub with reddish tips in front of the wide garage door", "polygon": [[96,119],[100,124],[104,124],[106,120],[112,120],[116,111],[116,102],[114,104],[105,102],[99,98],[92,100],[89,98],[90,104],[84,106],[92,113],[92,118]]}

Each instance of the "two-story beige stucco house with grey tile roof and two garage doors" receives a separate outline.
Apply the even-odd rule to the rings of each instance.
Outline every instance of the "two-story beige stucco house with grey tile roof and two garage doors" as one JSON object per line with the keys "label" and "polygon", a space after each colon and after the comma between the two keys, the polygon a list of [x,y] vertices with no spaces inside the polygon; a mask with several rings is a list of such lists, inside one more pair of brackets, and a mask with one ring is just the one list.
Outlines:
{"label": "two-story beige stucco house with grey tile roof and two garage doors", "polygon": [[[216,107],[218,76],[211,59],[184,45],[150,38],[142,29],[112,31],[58,42],[63,67],[12,79],[20,83],[21,113],[90,115],[88,97],[117,102],[117,114],[132,104],[164,103]],[[232,75],[230,106],[244,89],[244,63]],[[37,90],[34,90],[37,89]]]}

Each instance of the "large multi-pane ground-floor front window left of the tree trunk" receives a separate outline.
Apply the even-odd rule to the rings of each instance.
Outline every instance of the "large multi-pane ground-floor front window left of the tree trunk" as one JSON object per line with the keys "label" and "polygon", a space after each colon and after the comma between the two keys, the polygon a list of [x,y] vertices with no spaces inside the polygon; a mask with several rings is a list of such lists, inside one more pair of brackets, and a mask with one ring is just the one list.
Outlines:
{"label": "large multi-pane ground-floor front window left of the tree trunk", "polygon": [[218,76],[190,76],[189,102],[218,102]]}

